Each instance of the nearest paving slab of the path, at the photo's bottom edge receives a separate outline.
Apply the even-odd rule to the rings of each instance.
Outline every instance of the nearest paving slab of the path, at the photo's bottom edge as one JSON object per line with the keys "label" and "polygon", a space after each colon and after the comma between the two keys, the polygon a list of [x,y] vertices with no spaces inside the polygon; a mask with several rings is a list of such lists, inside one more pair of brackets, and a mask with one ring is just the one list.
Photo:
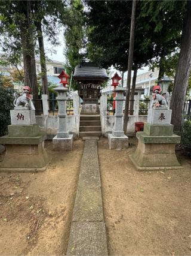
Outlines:
{"label": "nearest paving slab of the path, at the photo's bottom edge", "polygon": [[104,222],[72,222],[67,255],[108,255]]}

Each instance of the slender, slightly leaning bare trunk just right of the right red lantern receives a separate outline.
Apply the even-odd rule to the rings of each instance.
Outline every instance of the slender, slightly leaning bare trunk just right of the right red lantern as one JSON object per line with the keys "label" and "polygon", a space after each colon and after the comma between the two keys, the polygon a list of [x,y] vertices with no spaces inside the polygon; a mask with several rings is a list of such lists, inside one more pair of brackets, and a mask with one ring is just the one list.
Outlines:
{"label": "slender, slightly leaning bare trunk just right of the right red lantern", "polygon": [[135,34],[135,10],[136,10],[136,0],[133,0],[132,14],[131,14],[130,48],[129,48],[129,56],[128,56],[127,92],[126,92],[126,99],[125,99],[125,114],[124,114],[124,133],[125,134],[127,134],[127,124],[128,124],[128,117],[129,117],[131,70],[133,66],[133,50],[134,50],[134,34]]}

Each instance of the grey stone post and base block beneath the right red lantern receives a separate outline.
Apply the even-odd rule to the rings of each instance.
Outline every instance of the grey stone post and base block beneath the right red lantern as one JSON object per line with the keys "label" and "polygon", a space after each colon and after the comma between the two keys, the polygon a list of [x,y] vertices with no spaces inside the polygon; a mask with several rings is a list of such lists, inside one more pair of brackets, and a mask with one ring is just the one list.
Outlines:
{"label": "grey stone post and base block beneath the right red lantern", "polygon": [[126,149],[128,147],[128,137],[123,131],[123,100],[124,100],[124,88],[120,85],[114,90],[116,92],[116,113],[115,124],[112,130],[112,134],[108,134],[109,149]]}

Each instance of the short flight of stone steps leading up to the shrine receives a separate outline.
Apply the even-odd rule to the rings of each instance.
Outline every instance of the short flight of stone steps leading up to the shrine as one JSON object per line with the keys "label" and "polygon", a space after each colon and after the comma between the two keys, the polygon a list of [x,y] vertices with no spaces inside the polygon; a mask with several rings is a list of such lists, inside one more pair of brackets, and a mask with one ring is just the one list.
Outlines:
{"label": "short flight of stone steps leading up to the shrine", "polygon": [[79,123],[80,137],[101,137],[100,115],[81,115]]}

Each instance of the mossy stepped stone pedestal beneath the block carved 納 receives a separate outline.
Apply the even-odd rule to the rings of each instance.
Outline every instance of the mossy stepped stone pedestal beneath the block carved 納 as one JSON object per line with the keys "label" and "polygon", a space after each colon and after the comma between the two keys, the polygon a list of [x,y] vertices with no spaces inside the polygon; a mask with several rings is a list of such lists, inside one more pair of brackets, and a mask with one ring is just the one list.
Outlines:
{"label": "mossy stepped stone pedestal beneath the block carved \u7d0d", "polygon": [[[11,111],[13,113],[13,110]],[[25,111],[23,115],[27,116]],[[44,171],[48,163],[47,152],[44,149],[45,139],[46,135],[42,134],[36,124],[9,125],[8,135],[0,138],[0,143],[5,144],[6,148],[5,157],[0,162],[0,171]]]}

